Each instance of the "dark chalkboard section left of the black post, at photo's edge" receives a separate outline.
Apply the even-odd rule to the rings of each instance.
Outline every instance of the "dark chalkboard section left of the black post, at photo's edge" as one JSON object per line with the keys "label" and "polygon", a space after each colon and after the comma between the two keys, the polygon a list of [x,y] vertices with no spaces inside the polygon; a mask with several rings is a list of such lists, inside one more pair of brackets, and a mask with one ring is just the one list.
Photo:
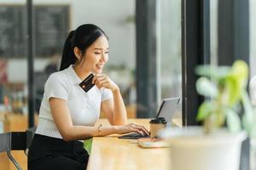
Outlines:
{"label": "dark chalkboard section left of the black post, at photo's edge", "polygon": [[26,55],[26,10],[0,5],[0,57]]}

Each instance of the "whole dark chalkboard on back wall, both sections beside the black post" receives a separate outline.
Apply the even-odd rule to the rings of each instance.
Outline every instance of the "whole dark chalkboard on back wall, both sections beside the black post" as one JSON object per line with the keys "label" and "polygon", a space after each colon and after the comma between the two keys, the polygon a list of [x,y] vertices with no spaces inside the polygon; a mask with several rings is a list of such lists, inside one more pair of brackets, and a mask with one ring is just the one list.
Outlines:
{"label": "whole dark chalkboard on back wall, both sections beside the black post", "polygon": [[[26,58],[26,7],[0,4],[0,58]],[[36,57],[60,53],[69,30],[69,6],[34,5]]]}

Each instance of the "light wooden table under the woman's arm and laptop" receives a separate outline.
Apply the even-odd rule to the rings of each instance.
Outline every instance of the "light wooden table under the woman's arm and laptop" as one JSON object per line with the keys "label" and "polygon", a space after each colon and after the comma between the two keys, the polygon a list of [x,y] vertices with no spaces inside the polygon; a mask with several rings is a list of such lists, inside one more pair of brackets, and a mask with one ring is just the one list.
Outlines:
{"label": "light wooden table under the woman's arm and laptop", "polygon": [[[149,119],[129,119],[149,130]],[[100,120],[97,124],[109,125]],[[136,139],[118,139],[118,135],[93,138],[87,170],[170,169],[169,148],[143,149]]]}

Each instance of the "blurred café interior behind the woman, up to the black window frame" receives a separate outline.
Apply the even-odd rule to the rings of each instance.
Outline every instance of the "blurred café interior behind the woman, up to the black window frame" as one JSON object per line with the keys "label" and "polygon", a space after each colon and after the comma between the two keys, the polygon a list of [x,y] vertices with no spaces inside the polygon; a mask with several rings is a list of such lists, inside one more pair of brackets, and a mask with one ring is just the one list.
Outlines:
{"label": "blurred caf\u00e9 interior behind the woman, up to the black window frame", "polygon": [[[181,1],[148,5],[154,17],[146,19],[136,0],[0,0],[0,133],[37,125],[44,83],[59,70],[68,32],[88,23],[109,37],[103,71],[119,85],[129,118],[155,116],[162,99],[181,97]],[[138,20],[152,26],[139,22],[140,33]],[[147,42],[154,42],[153,51]],[[24,153],[14,156],[26,169]],[[15,169],[4,153],[0,169]]]}

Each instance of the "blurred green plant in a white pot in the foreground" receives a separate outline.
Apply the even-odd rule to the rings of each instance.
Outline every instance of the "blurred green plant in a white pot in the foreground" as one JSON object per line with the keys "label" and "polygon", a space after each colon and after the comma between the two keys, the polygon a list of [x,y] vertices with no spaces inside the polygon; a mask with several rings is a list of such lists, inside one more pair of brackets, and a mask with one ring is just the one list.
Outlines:
{"label": "blurred green plant in a white pot in the foreground", "polygon": [[204,126],[162,133],[171,144],[172,169],[238,170],[241,142],[255,131],[247,64],[236,60],[232,66],[200,65],[195,72],[200,76],[197,92],[205,97],[196,119]]}

